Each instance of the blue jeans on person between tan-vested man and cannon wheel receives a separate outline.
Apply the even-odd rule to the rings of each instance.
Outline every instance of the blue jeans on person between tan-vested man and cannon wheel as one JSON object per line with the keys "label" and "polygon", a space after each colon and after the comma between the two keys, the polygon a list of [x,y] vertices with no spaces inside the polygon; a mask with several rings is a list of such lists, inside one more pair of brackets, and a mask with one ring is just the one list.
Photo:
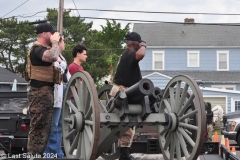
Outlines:
{"label": "blue jeans on person between tan-vested man and cannon wheel", "polygon": [[53,108],[52,130],[48,139],[48,144],[44,153],[56,155],[57,158],[64,158],[64,153],[61,149],[62,145],[62,108]]}

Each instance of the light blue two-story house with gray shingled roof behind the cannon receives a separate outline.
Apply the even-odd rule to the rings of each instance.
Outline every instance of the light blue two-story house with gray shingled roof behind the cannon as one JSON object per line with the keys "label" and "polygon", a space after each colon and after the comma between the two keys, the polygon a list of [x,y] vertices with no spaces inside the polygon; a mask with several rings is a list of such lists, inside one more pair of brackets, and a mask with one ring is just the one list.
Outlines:
{"label": "light blue two-story house with gray shingled roof behind the cannon", "polygon": [[[200,86],[203,87],[201,90],[204,96],[225,96],[225,112],[235,110],[233,101],[240,97],[240,30],[238,25],[135,23],[133,31],[139,33],[148,44],[146,56],[139,64],[143,73],[153,80],[155,86],[165,88],[166,81],[171,78],[167,80],[164,74],[173,77],[176,76],[174,72],[177,71],[182,71],[181,74],[189,73],[198,82],[203,82]],[[164,70],[159,70],[160,74],[152,74],[157,72],[153,70],[153,51],[164,52]],[[199,67],[187,67],[188,51],[199,52]],[[225,72],[218,71],[217,68],[219,51],[224,51],[223,53],[228,56],[228,70]],[[196,71],[196,73],[188,71]],[[151,75],[147,76],[147,73]],[[236,85],[236,90],[214,90],[211,89],[211,85]]]}

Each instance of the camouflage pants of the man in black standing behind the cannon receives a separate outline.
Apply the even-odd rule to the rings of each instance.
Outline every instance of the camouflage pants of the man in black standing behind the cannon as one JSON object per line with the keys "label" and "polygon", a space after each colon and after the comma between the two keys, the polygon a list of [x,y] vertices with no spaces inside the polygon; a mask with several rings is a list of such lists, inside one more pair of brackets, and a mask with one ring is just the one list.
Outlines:
{"label": "camouflage pants of the man in black standing behind the cannon", "polygon": [[[114,84],[109,95],[114,97],[118,91],[124,91],[126,89],[127,87],[125,86]],[[127,130],[127,132],[118,139],[118,146],[131,147],[134,134],[135,134],[135,127],[129,128],[129,130]]]}

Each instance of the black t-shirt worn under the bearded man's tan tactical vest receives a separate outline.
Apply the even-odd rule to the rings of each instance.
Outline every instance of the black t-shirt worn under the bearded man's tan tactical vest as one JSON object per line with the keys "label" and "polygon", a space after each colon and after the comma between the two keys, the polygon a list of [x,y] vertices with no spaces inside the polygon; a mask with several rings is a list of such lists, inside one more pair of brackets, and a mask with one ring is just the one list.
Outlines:
{"label": "black t-shirt worn under the bearded man's tan tactical vest", "polygon": [[[36,46],[32,49],[30,53],[30,59],[33,66],[50,66],[52,63],[42,61],[43,53],[47,50],[44,46]],[[30,86],[32,87],[42,87],[42,86],[54,86],[54,83],[38,81],[31,79]]]}

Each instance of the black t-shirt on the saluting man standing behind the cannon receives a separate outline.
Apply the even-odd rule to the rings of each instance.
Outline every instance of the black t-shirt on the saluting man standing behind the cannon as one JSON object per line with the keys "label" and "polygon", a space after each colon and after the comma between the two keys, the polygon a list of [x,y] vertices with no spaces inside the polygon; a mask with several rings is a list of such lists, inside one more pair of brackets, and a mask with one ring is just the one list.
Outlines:
{"label": "black t-shirt on the saluting man standing behind the cannon", "polygon": [[118,62],[114,83],[130,87],[142,79],[136,51],[126,49]]}

